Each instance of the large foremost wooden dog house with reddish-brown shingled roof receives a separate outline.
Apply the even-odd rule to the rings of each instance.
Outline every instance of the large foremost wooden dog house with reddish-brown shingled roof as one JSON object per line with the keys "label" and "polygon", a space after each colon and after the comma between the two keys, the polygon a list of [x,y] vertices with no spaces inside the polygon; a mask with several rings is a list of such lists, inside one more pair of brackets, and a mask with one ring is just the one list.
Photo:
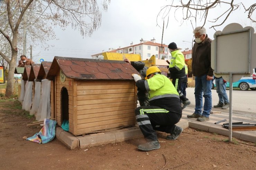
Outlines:
{"label": "large foremost wooden dog house with reddish-brown shingled roof", "polygon": [[74,135],[136,123],[138,72],[116,60],[55,57],[46,76],[55,80],[56,121]]}

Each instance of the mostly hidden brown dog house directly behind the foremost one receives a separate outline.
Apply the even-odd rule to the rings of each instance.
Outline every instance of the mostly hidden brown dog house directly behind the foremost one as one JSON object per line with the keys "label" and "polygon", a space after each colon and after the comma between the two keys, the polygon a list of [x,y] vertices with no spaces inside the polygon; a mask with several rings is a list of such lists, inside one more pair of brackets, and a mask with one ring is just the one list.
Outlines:
{"label": "mostly hidden brown dog house directly behind the foremost one", "polygon": [[[46,79],[46,75],[52,65],[52,62],[49,61],[43,61],[40,64],[40,68],[37,74],[36,81],[42,81],[43,79]],[[54,80],[51,81],[51,119],[54,119],[56,117],[55,114],[55,83]]]}

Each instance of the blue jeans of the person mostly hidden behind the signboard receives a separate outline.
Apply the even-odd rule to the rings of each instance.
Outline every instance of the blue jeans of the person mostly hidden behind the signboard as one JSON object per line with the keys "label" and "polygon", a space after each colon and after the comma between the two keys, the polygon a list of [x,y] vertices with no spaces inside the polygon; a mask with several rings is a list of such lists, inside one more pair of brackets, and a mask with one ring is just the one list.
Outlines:
{"label": "blue jeans of the person mostly hidden behind the signboard", "polygon": [[219,102],[229,104],[228,95],[226,93],[226,85],[227,83],[224,83],[223,78],[216,78],[215,79],[216,84],[216,91],[219,96]]}

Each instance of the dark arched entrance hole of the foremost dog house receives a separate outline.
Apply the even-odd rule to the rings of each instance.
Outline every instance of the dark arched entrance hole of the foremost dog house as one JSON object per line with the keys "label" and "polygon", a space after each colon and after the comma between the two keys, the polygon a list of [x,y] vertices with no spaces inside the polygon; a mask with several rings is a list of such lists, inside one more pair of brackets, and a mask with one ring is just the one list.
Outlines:
{"label": "dark arched entrance hole of the foremost dog house", "polygon": [[64,120],[68,121],[68,92],[65,87],[61,90],[61,124]]}

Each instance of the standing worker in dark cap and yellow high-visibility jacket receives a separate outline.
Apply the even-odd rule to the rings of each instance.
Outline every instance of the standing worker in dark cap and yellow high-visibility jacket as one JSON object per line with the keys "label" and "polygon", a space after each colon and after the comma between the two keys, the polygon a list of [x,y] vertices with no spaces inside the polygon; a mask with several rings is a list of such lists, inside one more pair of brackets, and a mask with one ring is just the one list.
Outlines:
{"label": "standing worker in dark cap and yellow high-visibility jacket", "polygon": [[[182,52],[177,48],[175,42],[168,45],[169,51],[172,54],[172,59],[169,65],[169,72],[171,74],[172,83],[179,93],[180,99],[182,100],[182,109],[185,109],[191,102],[181,92],[181,84],[184,81],[185,75],[185,59]],[[188,79],[187,79],[188,81]]]}

